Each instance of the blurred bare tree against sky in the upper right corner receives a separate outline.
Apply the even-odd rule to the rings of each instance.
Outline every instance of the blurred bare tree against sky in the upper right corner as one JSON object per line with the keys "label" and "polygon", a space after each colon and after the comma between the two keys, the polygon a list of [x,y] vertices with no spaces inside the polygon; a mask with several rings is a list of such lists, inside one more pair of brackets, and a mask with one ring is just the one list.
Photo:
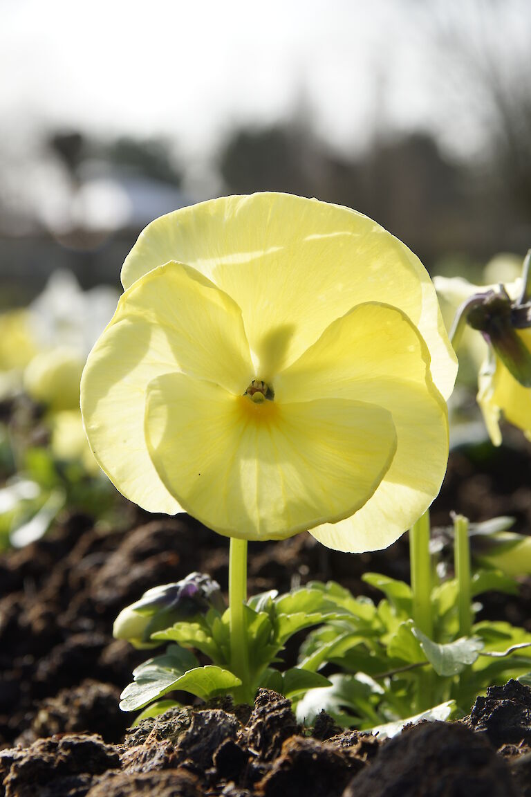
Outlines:
{"label": "blurred bare tree against sky in the upper right corner", "polygon": [[432,37],[452,64],[443,91],[451,94],[455,120],[471,118],[482,131],[483,190],[498,213],[526,222],[529,234],[531,4],[468,0],[463,9],[432,0],[430,6]]}

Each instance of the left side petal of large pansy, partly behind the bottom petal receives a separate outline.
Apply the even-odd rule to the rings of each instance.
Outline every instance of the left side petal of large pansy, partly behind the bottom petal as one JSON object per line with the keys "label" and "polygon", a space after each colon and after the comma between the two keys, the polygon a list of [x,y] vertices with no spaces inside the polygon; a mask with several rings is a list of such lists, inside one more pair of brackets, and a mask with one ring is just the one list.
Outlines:
{"label": "left side petal of large pansy, partly behind the bottom petal", "polygon": [[200,273],[168,263],[119,300],[81,380],[92,451],[120,493],[150,512],[180,512],[144,440],[146,387],[186,371],[243,393],[254,375],[240,309]]}

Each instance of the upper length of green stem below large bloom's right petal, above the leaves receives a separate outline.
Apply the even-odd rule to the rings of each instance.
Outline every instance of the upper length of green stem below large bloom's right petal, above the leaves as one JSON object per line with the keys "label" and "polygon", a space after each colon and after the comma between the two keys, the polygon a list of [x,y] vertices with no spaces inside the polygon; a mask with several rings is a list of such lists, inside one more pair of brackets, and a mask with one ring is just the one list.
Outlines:
{"label": "upper length of green stem below large bloom's right petal, above the leaves", "polygon": [[424,515],[412,525],[409,532],[409,562],[413,591],[413,621],[417,628],[430,639],[433,638],[431,617],[431,556],[430,514]]}

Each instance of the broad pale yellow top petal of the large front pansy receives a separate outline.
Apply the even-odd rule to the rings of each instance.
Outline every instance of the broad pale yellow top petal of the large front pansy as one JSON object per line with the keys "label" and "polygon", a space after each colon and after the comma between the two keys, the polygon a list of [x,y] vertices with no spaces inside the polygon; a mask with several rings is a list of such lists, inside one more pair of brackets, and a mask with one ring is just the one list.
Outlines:
{"label": "broad pale yellow top petal of the large front pansy", "polygon": [[124,287],[170,260],[200,270],[240,305],[262,379],[293,363],[355,304],[380,300],[418,326],[434,382],[451,393],[457,360],[426,269],[354,210],[274,193],[176,210],[140,235],[123,265]]}

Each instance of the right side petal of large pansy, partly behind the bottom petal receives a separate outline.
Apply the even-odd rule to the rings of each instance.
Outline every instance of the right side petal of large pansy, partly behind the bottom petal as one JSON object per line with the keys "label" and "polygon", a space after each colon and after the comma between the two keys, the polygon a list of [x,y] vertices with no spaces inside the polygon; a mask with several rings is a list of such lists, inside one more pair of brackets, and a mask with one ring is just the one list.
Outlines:
{"label": "right side petal of large pansy, partly behind the bottom petal", "polygon": [[448,458],[447,406],[431,381],[428,347],[403,312],[358,305],[275,383],[281,402],[331,395],[389,410],[397,448],[381,485],[355,515],[311,533],[336,550],[386,548],[431,504]]}

